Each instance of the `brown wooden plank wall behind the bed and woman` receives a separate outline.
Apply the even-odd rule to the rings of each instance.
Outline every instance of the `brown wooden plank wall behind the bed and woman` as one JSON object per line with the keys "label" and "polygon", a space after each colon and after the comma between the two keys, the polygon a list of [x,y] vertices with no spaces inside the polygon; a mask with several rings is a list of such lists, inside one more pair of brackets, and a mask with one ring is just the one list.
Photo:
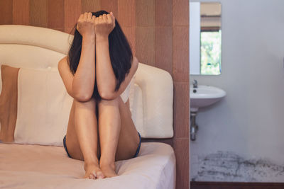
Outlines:
{"label": "brown wooden plank wall behind the bed and woman", "polygon": [[173,139],[177,188],[189,188],[188,0],[1,0],[0,24],[34,25],[70,33],[80,13],[113,11],[139,62],[165,69],[174,81]]}

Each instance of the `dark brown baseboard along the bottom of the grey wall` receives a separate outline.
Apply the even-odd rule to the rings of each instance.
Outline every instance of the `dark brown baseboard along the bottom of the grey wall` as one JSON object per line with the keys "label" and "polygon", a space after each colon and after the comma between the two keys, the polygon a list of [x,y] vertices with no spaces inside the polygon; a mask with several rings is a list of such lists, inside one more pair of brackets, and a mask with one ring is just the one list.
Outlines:
{"label": "dark brown baseboard along the bottom of the grey wall", "polygon": [[284,183],[190,182],[191,189],[283,189]]}

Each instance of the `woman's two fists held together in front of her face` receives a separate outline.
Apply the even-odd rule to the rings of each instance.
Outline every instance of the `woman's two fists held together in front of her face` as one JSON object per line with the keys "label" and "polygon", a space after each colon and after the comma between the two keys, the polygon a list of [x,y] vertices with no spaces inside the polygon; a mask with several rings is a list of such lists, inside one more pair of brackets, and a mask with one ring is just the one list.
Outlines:
{"label": "woman's two fists held together in front of her face", "polygon": [[82,13],[77,21],[77,30],[84,36],[108,37],[115,27],[114,14],[93,16],[91,12]]}

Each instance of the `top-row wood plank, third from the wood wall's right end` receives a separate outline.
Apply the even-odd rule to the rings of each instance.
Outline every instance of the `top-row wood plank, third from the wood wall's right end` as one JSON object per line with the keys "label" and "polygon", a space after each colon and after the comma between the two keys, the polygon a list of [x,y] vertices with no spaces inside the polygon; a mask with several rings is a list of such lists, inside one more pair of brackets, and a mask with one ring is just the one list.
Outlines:
{"label": "top-row wood plank, third from the wood wall's right end", "polygon": [[155,26],[155,1],[136,0],[136,26]]}

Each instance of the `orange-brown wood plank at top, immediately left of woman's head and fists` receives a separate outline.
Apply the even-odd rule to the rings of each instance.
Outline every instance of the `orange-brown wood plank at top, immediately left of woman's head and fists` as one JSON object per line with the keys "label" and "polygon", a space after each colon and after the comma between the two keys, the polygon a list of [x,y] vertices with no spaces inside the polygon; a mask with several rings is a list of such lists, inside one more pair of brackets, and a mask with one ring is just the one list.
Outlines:
{"label": "orange-brown wood plank at top, immediately left of woman's head and fists", "polygon": [[81,14],[81,0],[64,1],[64,25],[66,33],[70,33],[70,30],[74,28],[80,14]]}

